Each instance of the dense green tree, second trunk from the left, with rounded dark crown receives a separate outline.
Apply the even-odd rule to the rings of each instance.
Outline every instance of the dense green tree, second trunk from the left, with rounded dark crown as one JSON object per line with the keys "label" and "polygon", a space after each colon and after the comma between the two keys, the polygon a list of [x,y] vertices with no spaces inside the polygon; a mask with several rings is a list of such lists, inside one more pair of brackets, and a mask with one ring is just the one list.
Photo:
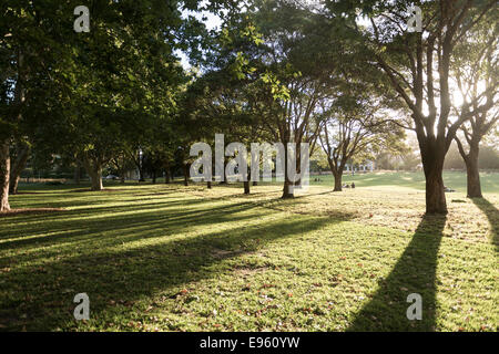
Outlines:
{"label": "dense green tree, second trunk from the left, with rounded dark crown", "polygon": [[175,114],[185,80],[174,53],[185,24],[176,8],[151,0],[98,10],[93,30],[73,48],[72,114],[65,116],[68,147],[83,162],[92,190],[103,188],[104,165],[125,150],[139,154]]}

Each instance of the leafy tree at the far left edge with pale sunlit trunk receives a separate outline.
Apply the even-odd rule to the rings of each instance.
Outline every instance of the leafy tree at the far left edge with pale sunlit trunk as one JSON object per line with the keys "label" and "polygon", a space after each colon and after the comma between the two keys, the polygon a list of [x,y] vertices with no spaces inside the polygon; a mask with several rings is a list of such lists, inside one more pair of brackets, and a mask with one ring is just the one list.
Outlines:
{"label": "leafy tree at the far left edge with pale sunlit trunk", "polygon": [[31,119],[50,112],[54,97],[61,98],[68,88],[61,69],[70,55],[62,43],[73,31],[61,18],[72,10],[54,0],[0,6],[0,211],[10,209],[10,183],[16,191],[26,164],[24,153],[18,149],[11,170],[11,145],[29,146],[24,127],[34,126]]}

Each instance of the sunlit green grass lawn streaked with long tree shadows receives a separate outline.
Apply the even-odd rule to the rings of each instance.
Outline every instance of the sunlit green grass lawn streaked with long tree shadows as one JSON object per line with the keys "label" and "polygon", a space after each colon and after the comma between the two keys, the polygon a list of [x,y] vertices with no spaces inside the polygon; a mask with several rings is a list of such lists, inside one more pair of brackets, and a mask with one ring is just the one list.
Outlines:
{"label": "sunlit green grass lawn streaked with long tree shadows", "polygon": [[447,173],[447,217],[422,217],[421,174],[352,178],[293,200],[272,184],[21,186],[13,208],[60,209],[0,216],[0,330],[497,331],[499,174],[471,200]]}

